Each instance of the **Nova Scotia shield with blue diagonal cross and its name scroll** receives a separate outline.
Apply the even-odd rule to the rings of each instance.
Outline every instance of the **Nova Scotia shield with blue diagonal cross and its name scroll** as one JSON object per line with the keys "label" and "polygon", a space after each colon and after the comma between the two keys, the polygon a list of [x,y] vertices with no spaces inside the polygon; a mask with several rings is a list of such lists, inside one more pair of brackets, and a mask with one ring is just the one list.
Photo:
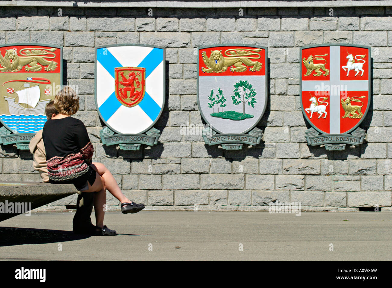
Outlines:
{"label": "Nova Scotia shield with blue diagonal cross and its name scroll", "polygon": [[96,48],[95,103],[104,145],[139,150],[158,143],[165,103],[165,48],[107,45]]}

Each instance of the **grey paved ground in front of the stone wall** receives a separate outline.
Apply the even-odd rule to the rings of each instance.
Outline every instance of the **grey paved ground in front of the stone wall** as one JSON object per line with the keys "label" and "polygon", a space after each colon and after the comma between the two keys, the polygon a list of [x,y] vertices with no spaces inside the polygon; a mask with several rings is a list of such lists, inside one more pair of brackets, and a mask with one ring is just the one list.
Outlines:
{"label": "grey paved ground in front of the stone wall", "polygon": [[392,212],[108,212],[106,237],[75,236],[73,215],[2,221],[0,260],[392,260]]}

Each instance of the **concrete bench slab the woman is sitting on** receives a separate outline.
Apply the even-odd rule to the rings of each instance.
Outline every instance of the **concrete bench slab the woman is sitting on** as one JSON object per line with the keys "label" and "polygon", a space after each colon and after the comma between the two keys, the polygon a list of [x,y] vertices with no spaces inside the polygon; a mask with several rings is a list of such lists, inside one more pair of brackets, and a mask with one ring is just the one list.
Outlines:
{"label": "concrete bench slab the woman is sitting on", "polygon": [[0,221],[25,213],[27,208],[33,210],[77,192],[73,184],[0,182]]}

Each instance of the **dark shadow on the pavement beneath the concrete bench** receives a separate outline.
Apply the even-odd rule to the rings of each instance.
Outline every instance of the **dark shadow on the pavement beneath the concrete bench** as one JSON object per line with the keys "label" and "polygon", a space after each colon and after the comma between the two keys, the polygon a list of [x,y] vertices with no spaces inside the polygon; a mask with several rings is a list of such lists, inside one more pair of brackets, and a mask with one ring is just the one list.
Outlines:
{"label": "dark shadow on the pavement beneath the concrete bench", "polygon": [[0,227],[0,246],[65,242],[89,237],[91,235],[64,230]]}

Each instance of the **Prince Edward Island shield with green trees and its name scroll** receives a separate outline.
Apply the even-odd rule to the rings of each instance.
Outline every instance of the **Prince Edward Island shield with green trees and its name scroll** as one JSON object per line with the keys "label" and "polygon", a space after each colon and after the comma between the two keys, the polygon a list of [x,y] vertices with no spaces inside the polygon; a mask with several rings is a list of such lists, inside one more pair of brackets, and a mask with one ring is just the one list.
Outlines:
{"label": "Prince Edward Island shield with green trees and its name scroll", "polygon": [[198,105],[207,123],[202,133],[205,143],[225,150],[260,144],[263,133],[255,126],[267,105],[267,48],[199,47],[198,70]]}

